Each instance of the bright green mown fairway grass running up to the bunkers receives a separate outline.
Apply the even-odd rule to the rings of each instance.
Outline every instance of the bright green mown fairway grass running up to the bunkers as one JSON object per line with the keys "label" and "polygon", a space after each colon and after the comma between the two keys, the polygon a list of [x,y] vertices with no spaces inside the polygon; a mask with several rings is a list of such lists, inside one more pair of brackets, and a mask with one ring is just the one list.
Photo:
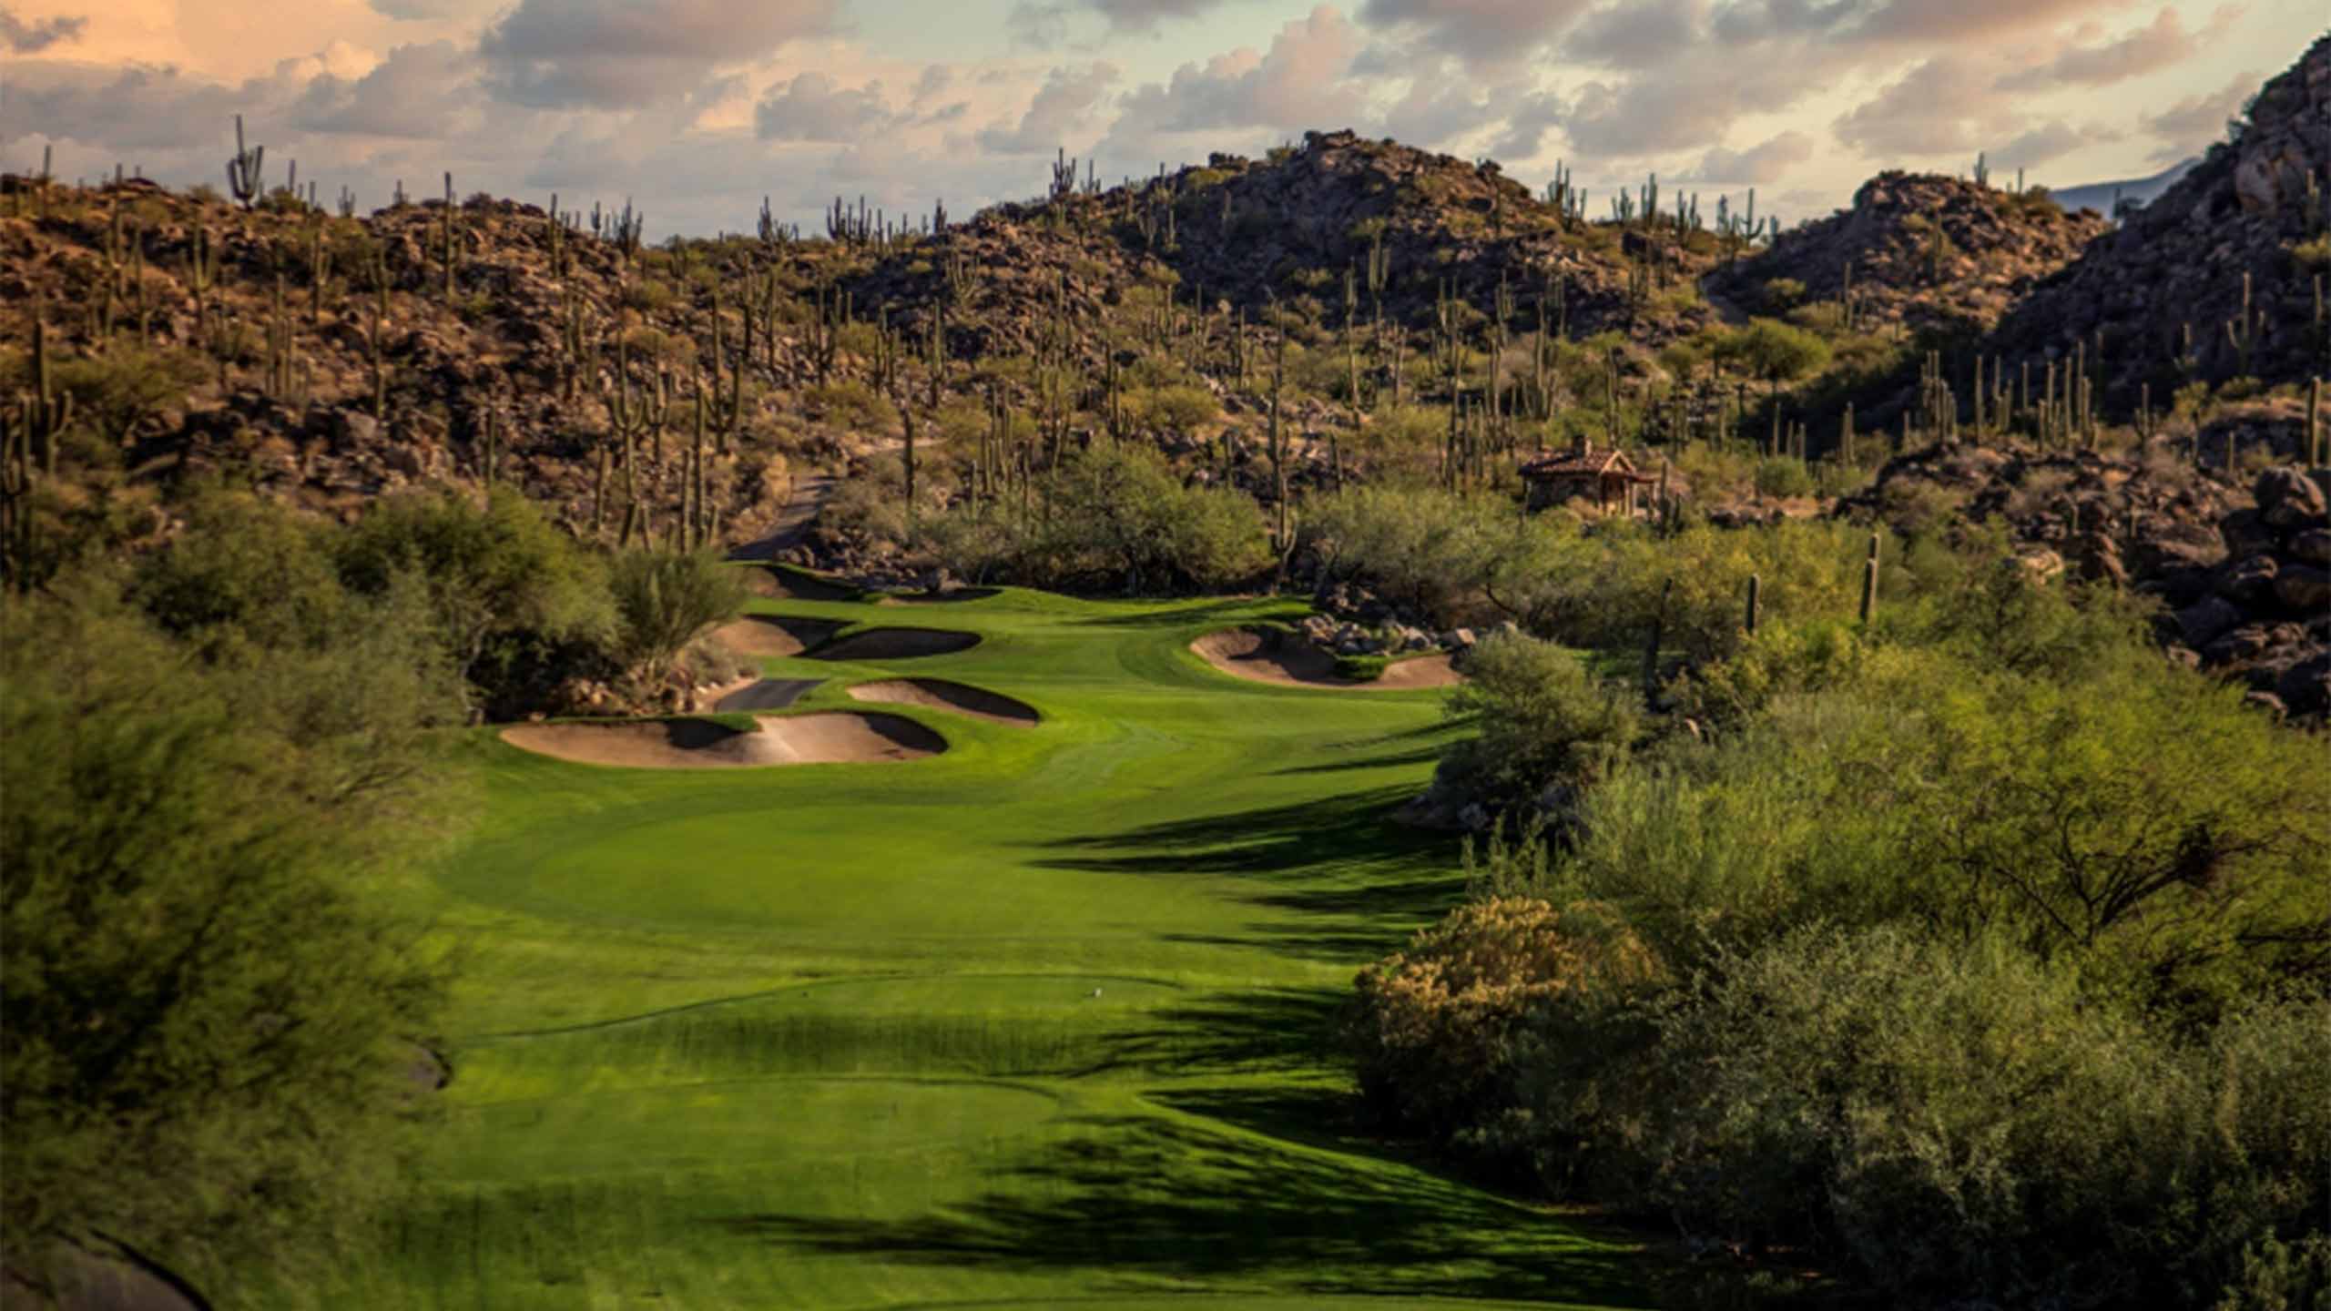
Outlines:
{"label": "bright green mown fairway grass running up to the bunkers", "polygon": [[[851,665],[1014,695],[883,707],[942,756],[648,772],[473,735],[485,819],[408,896],[462,959],[457,1071],[382,1309],[1641,1306],[1636,1243],[1354,1129],[1352,970],[1462,891],[1389,821],[1438,693],[1186,651],[1287,602],[1005,590],[769,614],[979,632]],[[289,1290],[256,1304],[294,1304]]]}

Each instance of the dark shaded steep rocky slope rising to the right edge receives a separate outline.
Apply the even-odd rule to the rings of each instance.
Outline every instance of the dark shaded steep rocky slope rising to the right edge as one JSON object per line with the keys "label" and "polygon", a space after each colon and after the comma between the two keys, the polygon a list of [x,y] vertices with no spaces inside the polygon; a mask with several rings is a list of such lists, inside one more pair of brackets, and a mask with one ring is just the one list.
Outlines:
{"label": "dark shaded steep rocky slope rising to the right edge", "polygon": [[[2270,79],[2233,142],[2000,324],[2009,357],[2105,341],[2103,404],[2154,408],[2191,383],[2331,371],[2331,35]],[[2091,345],[2093,350],[2093,345]]]}

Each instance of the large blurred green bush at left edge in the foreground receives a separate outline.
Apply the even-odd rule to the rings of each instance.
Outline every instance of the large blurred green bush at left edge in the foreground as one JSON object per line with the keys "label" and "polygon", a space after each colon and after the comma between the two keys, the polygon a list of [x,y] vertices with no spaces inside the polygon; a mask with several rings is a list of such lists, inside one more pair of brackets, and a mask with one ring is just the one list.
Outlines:
{"label": "large blurred green bush at left edge in the foreground", "polygon": [[448,772],[396,735],[317,770],[329,742],[96,583],[0,607],[9,1262],[103,1236],[196,1276],[319,1269],[420,1110],[443,973],[373,879],[459,828]]}

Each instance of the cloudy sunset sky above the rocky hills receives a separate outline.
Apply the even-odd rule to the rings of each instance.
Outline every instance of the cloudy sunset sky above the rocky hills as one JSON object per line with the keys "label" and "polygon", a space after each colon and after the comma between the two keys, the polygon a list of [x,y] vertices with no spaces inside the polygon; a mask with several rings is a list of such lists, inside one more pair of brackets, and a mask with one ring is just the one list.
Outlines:
{"label": "cloudy sunset sky above the rocky hills", "polygon": [[1758,189],[1800,222],[1883,168],[2072,187],[2212,140],[2322,0],[0,0],[0,170],[359,208],[492,191],[646,233],[823,231],[834,196],[965,217],[1305,131],[1497,159],[1543,189]]}

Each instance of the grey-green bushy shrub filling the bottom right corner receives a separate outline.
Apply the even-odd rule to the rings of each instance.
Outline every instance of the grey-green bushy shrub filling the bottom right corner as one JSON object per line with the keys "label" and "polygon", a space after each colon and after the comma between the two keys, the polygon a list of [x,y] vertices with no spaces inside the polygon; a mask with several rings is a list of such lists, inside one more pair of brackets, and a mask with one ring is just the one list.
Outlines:
{"label": "grey-green bushy shrub filling the bottom right corner", "polygon": [[2331,1204],[2326,1022],[2177,1043],[1993,938],[1807,928],[1664,1005],[1634,1201],[1897,1299],[2203,1306]]}

